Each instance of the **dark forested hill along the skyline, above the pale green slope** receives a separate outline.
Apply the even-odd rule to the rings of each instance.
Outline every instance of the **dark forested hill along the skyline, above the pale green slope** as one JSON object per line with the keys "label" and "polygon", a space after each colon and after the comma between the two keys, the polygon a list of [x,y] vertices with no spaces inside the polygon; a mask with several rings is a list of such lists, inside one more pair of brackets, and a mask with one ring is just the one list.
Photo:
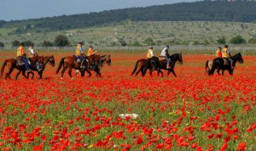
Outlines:
{"label": "dark forested hill along the skyline, above the pale green slope", "polygon": [[26,31],[61,31],[131,21],[256,22],[256,2],[203,1],[146,8],[124,8],[100,13],[62,15],[37,20],[0,21],[2,28]]}

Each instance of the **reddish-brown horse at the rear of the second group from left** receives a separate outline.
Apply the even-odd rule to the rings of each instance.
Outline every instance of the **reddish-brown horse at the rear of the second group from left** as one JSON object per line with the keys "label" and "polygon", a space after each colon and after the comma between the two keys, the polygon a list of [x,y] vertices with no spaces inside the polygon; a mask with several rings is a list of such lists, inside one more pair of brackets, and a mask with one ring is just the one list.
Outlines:
{"label": "reddish-brown horse at the rear of the second group from left", "polygon": [[80,68],[80,64],[74,59],[73,56],[67,56],[67,57],[63,57],[60,60],[58,69],[56,70],[56,74],[59,73],[59,71],[61,70],[61,67],[63,67],[63,70],[61,71],[61,79],[63,79],[63,75],[65,73],[65,71],[68,69],[68,75],[71,77],[71,79],[73,79],[72,77],[72,69],[75,70],[79,70],[81,73],[81,76],[84,76],[84,72],[87,71],[89,73],[89,75],[91,76],[90,73],[90,64],[89,61],[84,61],[84,68]]}

